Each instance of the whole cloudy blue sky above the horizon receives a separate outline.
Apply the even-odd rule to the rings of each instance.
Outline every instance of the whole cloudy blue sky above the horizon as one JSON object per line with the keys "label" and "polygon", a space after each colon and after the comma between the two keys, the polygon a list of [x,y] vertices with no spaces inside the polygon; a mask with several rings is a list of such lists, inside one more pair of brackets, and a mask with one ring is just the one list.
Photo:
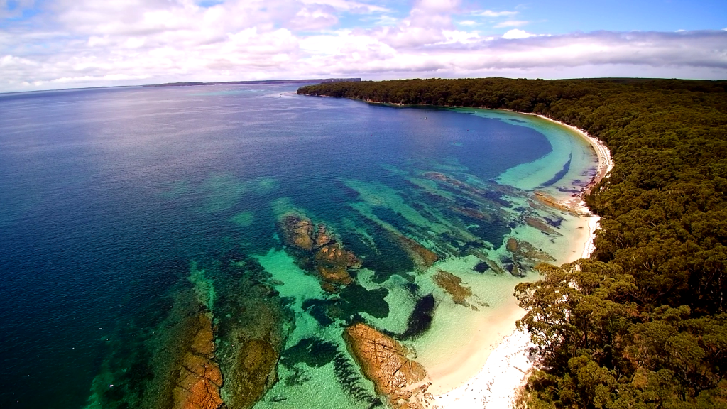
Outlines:
{"label": "whole cloudy blue sky above the horizon", "polygon": [[484,76],[727,79],[727,1],[0,0],[0,92]]}

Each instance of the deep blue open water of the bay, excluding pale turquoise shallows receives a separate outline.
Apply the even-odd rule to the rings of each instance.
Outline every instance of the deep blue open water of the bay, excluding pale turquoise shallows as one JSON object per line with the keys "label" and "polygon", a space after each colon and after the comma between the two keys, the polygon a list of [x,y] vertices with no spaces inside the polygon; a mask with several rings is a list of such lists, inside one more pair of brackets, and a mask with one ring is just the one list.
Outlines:
{"label": "deep blue open water of the bay, excluding pale turquoise shallows", "polygon": [[[514,188],[498,190],[492,180],[553,150],[542,132],[497,118],[281,95],[296,87],[0,95],[0,408],[124,407],[119,402],[130,399],[124,394],[145,388],[152,376],[124,378],[138,385],[91,402],[99,394],[94,380],[121,384],[119,373],[133,371],[134,362],[161,360],[152,345],[174,325],[175,294],[198,285],[188,279],[196,266],[215,286],[216,298],[208,301],[224,329],[225,317],[235,317],[238,308],[233,300],[256,295],[226,282],[220,260],[234,254],[235,262],[260,258],[266,265],[262,258],[283,248],[276,223],[286,211],[326,223],[374,271],[373,282],[393,274],[414,282],[413,263],[401,261],[406,255],[390,237],[379,239],[380,226],[439,258],[473,254],[477,243],[504,248],[525,210],[508,199],[518,194]],[[458,193],[427,172],[479,190]],[[473,199],[483,189],[490,192],[483,202]],[[498,216],[498,206],[512,208],[513,216]],[[491,217],[473,221],[462,209]],[[420,217],[442,226],[450,220],[451,230],[476,240],[427,230],[414,224]],[[410,290],[416,298],[417,289]],[[361,291],[336,297],[350,297],[353,305],[366,298]],[[292,298],[267,296],[281,298],[265,301],[280,317],[306,311],[321,328],[330,324],[316,309],[324,298],[299,311]],[[339,318],[347,319],[328,320]],[[293,337],[292,324],[286,328],[282,333]],[[291,339],[281,341],[280,352]],[[293,360],[286,359],[280,365]]]}

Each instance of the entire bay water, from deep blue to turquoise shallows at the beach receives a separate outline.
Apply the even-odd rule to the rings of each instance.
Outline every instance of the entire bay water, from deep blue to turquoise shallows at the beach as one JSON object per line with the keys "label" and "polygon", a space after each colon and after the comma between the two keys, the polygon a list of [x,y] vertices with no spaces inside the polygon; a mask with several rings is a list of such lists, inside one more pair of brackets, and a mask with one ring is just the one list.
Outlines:
{"label": "entire bay water, from deep blue to turquoise shallows at the beach", "polygon": [[[533,191],[566,198],[590,180],[595,155],[571,131],[280,95],[293,91],[0,95],[2,408],[164,407],[200,311],[227,402],[247,379],[236,357],[261,341],[279,360],[255,408],[369,408],[380,398],[345,325],[445,359],[442,322],[496,314],[534,263],[565,257],[576,218]],[[356,255],[349,285],[324,290],[313,253],[284,245],[287,215]],[[472,289],[465,303],[435,283],[440,270]]]}

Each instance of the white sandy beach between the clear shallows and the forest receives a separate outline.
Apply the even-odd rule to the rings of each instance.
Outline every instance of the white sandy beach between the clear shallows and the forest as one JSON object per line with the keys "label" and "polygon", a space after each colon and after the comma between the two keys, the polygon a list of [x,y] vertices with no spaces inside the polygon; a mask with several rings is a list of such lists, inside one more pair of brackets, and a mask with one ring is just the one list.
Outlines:
{"label": "white sandy beach between the clear shallows and the forest", "polygon": [[[613,169],[614,162],[611,159],[611,151],[601,140],[593,138],[577,127],[558,122],[555,119],[537,114],[529,115],[539,116],[547,121],[567,127],[585,138],[593,147],[596,156],[598,156],[598,170],[593,180],[583,189],[582,193],[587,192]],[[582,251],[579,252],[579,258],[588,258],[595,250],[593,240],[595,239],[595,231],[601,228],[599,226],[601,218],[590,213],[582,199],[571,200],[564,204],[587,216],[588,233],[585,240],[576,243],[576,245],[582,248]],[[510,335],[502,337],[502,340],[490,352],[485,364],[475,376],[449,392],[433,396],[428,400],[428,403],[430,403],[428,407],[438,409],[500,409],[512,407],[519,390],[526,384],[527,378],[536,365],[537,359],[529,353],[533,346],[529,333],[525,330],[515,329]]]}

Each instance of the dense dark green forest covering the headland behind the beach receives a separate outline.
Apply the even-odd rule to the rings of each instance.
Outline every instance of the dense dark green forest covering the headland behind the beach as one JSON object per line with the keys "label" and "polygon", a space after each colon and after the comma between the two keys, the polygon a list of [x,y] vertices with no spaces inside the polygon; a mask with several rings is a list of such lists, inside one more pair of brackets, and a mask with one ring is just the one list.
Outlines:
{"label": "dense dark green forest covering the headland behind the beach", "polygon": [[534,112],[603,140],[590,259],[518,285],[526,408],[727,408],[727,81],[414,79],[298,93]]}

